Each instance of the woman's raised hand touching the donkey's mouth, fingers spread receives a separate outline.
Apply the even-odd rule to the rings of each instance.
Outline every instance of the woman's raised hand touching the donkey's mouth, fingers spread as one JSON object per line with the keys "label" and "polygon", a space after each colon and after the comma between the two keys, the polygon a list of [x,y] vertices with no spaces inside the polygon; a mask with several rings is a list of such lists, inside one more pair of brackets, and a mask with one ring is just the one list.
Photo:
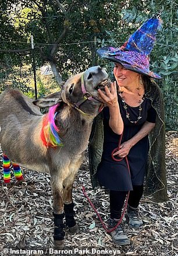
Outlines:
{"label": "woman's raised hand touching the donkey's mouth, fingers spread", "polygon": [[99,99],[108,107],[115,107],[116,103],[118,103],[118,94],[116,89],[116,82],[111,83],[111,92],[108,87],[105,86],[105,93],[102,90],[98,89]]}

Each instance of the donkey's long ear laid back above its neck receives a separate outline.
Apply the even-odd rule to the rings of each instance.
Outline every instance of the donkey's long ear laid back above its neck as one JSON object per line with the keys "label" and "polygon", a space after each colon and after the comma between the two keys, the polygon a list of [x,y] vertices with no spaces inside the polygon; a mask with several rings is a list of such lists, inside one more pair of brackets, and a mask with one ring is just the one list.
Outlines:
{"label": "donkey's long ear laid back above its neck", "polygon": [[58,103],[62,102],[61,92],[52,93],[48,96],[42,97],[41,99],[34,100],[33,104],[40,108],[52,107]]}

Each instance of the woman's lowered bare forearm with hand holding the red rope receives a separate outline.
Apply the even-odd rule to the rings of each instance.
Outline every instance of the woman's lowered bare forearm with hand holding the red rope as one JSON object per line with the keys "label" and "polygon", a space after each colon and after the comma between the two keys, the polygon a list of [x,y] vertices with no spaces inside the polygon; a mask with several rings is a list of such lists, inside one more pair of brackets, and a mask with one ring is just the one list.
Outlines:
{"label": "woman's lowered bare forearm with hand holding the red rope", "polygon": [[136,145],[138,141],[143,139],[146,135],[151,132],[151,130],[155,127],[155,123],[145,121],[143,127],[141,127],[140,131],[137,132],[129,141],[126,141],[120,145],[120,150],[114,153],[114,155],[118,155],[119,157],[125,157],[129,154],[130,149]]}

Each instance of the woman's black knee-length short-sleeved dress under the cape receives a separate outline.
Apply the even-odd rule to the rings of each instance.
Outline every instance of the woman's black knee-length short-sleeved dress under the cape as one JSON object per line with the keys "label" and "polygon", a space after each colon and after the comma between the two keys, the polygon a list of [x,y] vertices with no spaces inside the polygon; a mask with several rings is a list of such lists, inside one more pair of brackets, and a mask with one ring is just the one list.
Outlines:
{"label": "woman's black knee-length short-sleeved dress under the cape", "polygon": [[[145,98],[141,103],[141,118],[136,124],[131,123],[126,118],[126,110],[122,98],[118,95],[120,114],[122,115],[124,123],[124,131],[122,142],[126,142],[140,131],[145,121],[155,122],[156,111],[151,106],[151,100]],[[139,116],[138,107],[130,107],[127,104],[127,112],[130,114],[131,121],[137,121]],[[134,145],[127,156],[130,166],[130,175],[127,169],[126,160],[116,162],[112,159],[112,150],[118,148],[119,136],[109,127],[109,108],[105,107],[104,114],[104,148],[102,153],[102,160],[97,169],[97,177],[99,184],[116,191],[133,190],[132,185],[142,185],[145,175],[145,164],[147,162],[149,141],[148,135],[138,141]]]}

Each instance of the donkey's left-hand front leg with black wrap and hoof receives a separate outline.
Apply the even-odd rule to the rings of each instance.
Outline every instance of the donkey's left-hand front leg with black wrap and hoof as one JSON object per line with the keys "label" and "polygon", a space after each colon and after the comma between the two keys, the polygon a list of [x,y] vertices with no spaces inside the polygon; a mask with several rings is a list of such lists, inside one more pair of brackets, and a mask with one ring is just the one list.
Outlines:
{"label": "donkey's left-hand front leg with black wrap and hoof", "polygon": [[[54,182],[53,182],[54,181]],[[65,231],[63,230],[65,225],[63,224],[63,218],[65,216],[63,212],[63,199],[62,193],[63,188],[62,185],[58,185],[55,182],[55,177],[52,177],[52,191],[54,196],[54,204],[53,204],[53,216],[54,216],[54,246],[55,248],[62,249],[65,246],[64,238]]]}

